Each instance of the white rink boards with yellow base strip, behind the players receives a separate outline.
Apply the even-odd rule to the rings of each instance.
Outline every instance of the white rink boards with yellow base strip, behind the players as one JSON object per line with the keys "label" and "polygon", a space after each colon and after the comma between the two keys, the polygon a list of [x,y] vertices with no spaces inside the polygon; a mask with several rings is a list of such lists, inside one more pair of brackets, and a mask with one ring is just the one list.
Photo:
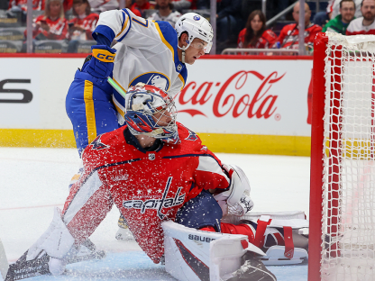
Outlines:
{"label": "white rink boards with yellow base strip, behind the players", "polygon": [[[85,56],[0,56],[0,146],[75,147],[65,96]],[[178,121],[215,152],[310,154],[310,57],[206,56],[188,66]]]}

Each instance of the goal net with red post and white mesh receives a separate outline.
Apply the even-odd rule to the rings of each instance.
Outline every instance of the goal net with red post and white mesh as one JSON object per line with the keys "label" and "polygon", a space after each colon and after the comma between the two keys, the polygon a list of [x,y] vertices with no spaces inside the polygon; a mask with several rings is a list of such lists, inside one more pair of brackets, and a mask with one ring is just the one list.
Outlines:
{"label": "goal net with red post and white mesh", "polygon": [[375,36],[316,36],[308,280],[375,280]]}

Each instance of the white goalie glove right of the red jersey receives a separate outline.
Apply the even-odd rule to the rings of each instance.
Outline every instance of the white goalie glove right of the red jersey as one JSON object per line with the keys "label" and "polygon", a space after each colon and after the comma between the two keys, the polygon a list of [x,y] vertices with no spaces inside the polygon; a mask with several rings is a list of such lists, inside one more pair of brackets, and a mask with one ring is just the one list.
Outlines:
{"label": "white goalie glove right of the red jersey", "polygon": [[223,165],[223,168],[231,178],[231,184],[227,191],[215,195],[215,200],[223,210],[223,216],[243,214],[252,210],[254,203],[250,198],[250,184],[242,168],[235,165]]}

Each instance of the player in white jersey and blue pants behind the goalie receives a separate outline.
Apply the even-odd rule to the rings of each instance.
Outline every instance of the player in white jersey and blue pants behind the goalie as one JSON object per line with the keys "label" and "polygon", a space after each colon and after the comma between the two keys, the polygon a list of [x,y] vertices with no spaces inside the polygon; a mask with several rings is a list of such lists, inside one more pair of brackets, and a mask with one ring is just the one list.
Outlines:
{"label": "player in white jersey and blue pants behind the goalie", "polygon": [[[100,14],[93,37],[92,57],[78,69],[66,99],[79,154],[96,136],[119,128],[124,120],[123,96],[107,83],[112,77],[126,92],[142,82],[177,95],[188,70],[211,50],[211,24],[188,13],[176,23],[152,22],[128,9]],[[117,41],[113,48],[113,41]]]}

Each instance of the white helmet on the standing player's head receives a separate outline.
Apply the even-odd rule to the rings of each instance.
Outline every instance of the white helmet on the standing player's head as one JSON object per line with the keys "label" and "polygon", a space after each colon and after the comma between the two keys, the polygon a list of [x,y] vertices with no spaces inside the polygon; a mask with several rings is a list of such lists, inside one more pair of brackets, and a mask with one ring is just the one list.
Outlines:
{"label": "white helmet on the standing player's head", "polygon": [[181,48],[178,46],[178,49],[188,49],[191,42],[195,38],[199,38],[207,43],[204,48],[205,53],[208,54],[210,52],[212,47],[212,40],[214,38],[214,32],[211,24],[208,23],[208,21],[203,16],[196,13],[183,14],[178,19],[175,25],[175,29],[178,34],[178,38],[183,32],[188,32],[188,46],[186,46],[185,48]]}

